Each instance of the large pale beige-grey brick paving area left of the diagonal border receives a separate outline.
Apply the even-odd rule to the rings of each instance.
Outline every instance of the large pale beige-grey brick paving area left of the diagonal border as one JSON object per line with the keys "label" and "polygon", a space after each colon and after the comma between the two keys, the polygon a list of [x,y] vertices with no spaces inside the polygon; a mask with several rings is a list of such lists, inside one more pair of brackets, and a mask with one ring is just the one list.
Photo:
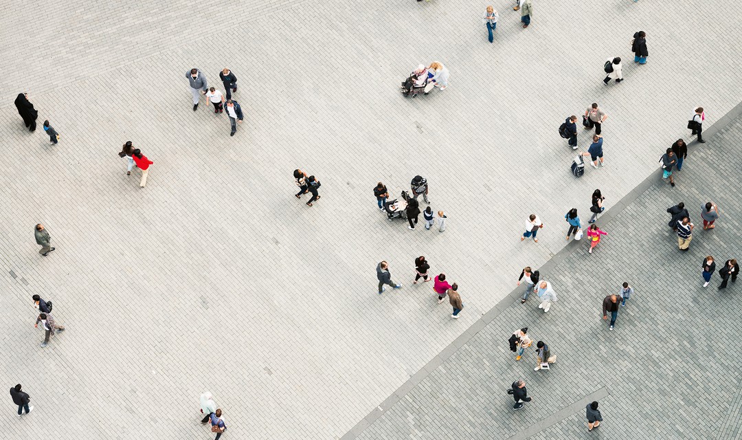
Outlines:
{"label": "large pale beige-grey brick paving area left of the diagonal border", "polygon": [[[742,36],[718,9],[740,16],[740,4],[544,0],[528,30],[509,5],[496,4],[490,45],[485,4],[463,0],[0,4],[0,347],[12,353],[0,371],[36,406],[19,422],[7,402],[9,435],[206,437],[198,396],[210,390],[225,438],[340,438],[505,298],[522,266],[565,246],[565,206],[585,211],[598,186],[620,200],[686,134],[694,105],[710,124],[738,103],[742,71],[719,54]],[[603,59],[628,59],[639,29],[649,64],[627,62],[626,81],[603,88]],[[433,60],[450,88],[399,96]],[[191,111],[185,80],[197,67],[220,87],[225,66],[246,116],[234,137],[203,100]],[[22,91],[59,145],[24,130]],[[575,181],[557,127],[594,101],[610,117],[607,166]],[[116,157],[128,139],[154,161],[144,189]],[[292,197],[297,167],[323,184],[309,209]],[[375,209],[378,180],[398,194],[415,174],[449,215],[444,234]],[[538,245],[517,240],[532,211],[546,223]],[[462,284],[458,321],[412,286],[418,255]],[[378,297],[381,259],[404,288]],[[34,293],[68,329],[43,350]]]}

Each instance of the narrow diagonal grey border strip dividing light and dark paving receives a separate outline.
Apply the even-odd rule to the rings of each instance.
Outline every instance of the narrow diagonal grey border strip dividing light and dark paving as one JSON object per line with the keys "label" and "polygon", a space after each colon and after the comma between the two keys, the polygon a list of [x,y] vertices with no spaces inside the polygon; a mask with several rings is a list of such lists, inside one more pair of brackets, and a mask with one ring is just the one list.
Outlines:
{"label": "narrow diagonal grey border strip dividing light and dark paving", "polygon": [[[727,112],[724,116],[720,117],[717,122],[709,126],[706,130],[703,131],[703,134],[707,139],[711,139],[715,136],[720,130],[722,130],[726,125],[729,125],[729,123],[733,122],[738,116],[742,115],[742,102],[739,102],[737,105],[735,105],[734,108],[732,108],[729,112]],[[698,142],[688,142],[689,149],[690,147],[697,147]],[[711,148],[711,145],[704,145],[706,148]],[[658,148],[658,154],[663,151],[662,148]],[[658,156],[659,157],[659,156]],[[659,166],[657,166],[657,169],[659,170]],[[614,206],[608,209],[608,211],[605,211],[605,214],[600,215],[600,223],[602,225],[610,224],[611,220],[613,220],[615,217],[617,217],[618,214],[620,214],[621,211],[623,211],[626,206],[628,206],[631,202],[634,200],[637,200],[637,198],[644,194],[646,191],[651,188],[654,183],[657,183],[658,174],[657,172],[651,172],[649,176],[646,177],[645,180],[643,180],[641,183],[639,183],[634,189],[628,192],[626,196],[622,197]],[[555,254],[553,257],[551,257],[546,263],[544,263],[540,268],[539,272],[542,274],[548,274],[548,271],[552,268],[556,267],[559,263],[562,263],[563,260],[565,260],[569,255],[572,254],[576,249],[578,249],[578,244],[574,243],[574,240],[571,241],[567,246],[563,247],[557,254]],[[548,280],[548,276],[543,277],[543,279]],[[378,405],[378,407],[375,407],[374,410],[372,410],[370,413],[367,414],[364,418],[361,419],[361,421],[358,421],[358,424],[355,424],[354,427],[352,427],[347,433],[345,433],[344,436],[341,437],[341,440],[352,440],[358,438],[358,436],[361,435],[361,433],[364,432],[364,430],[367,429],[367,427],[370,427],[378,418],[381,418],[381,416],[384,415],[384,413],[387,412],[391,407],[393,407],[398,401],[400,401],[402,398],[404,398],[407,393],[410,392],[410,390],[413,390],[418,384],[420,384],[427,375],[430,375],[431,372],[435,371],[438,367],[441,366],[441,364],[444,363],[448,358],[450,358],[450,355],[453,355],[460,347],[463,347],[464,344],[466,344],[468,341],[470,341],[471,338],[473,338],[477,333],[479,333],[482,329],[485,328],[488,324],[490,324],[492,321],[494,321],[495,318],[497,318],[502,312],[505,311],[505,309],[508,309],[510,305],[517,301],[518,298],[522,295],[523,288],[521,286],[516,287],[516,289],[513,289],[513,292],[510,292],[508,296],[502,299],[502,301],[499,301],[495,306],[492,307],[489,311],[485,312],[485,314],[482,315],[482,318],[479,318],[472,326],[470,326],[468,329],[466,329],[461,335],[459,335],[458,338],[454,339],[451,344],[449,344],[447,347],[441,350],[438,355],[434,356],[433,359],[430,360],[427,364],[425,364],[418,372],[416,372],[414,375],[410,376],[407,381],[404,382],[400,387],[398,387],[397,390],[395,390],[394,393],[392,393],[389,397],[387,397],[381,404]],[[558,292],[558,290],[557,290]],[[456,347],[456,349],[451,350],[450,347]],[[441,356],[441,353],[448,353],[447,355]],[[595,393],[599,393],[599,391],[596,391]],[[594,395],[595,393],[591,394]],[[606,392],[607,395],[607,392]],[[595,400],[595,399],[594,399]],[[569,408],[574,406],[575,404],[570,405]],[[556,414],[561,413],[559,411]],[[573,412],[574,413],[574,412]],[[555,414],[555,415],[556,415]],[[552,416],[553,417],[553,416]],[[563,417],[562,417],[563,418]],[[551,421],[551,417],[546,418],[543,423],[546,421]],[[533,431],[529,435],[533,435],[535,433],[538,433],[540,430],[544,429],[545,427],[551,426],[551,424],[556,423],[558,420],[551,421],[548,425],[544,424],[542,427],[539,428],[539,430]],[[541,426],[541,424],[538,424],[538,426]],[[530,429],[530,428],[529,428]],[[525,439],[525,437],[513,437],[513,439]]]}

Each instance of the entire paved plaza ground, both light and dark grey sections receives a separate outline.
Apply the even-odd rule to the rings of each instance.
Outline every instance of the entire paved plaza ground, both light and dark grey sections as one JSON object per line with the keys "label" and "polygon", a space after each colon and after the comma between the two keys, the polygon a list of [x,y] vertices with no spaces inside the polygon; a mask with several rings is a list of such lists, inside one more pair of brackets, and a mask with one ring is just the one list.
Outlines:
{"label": "entire paved plaza ground, both light and dark grey sections", "polygon": [[[1,3],[0,376],[36,408],[19,420],[6,395],[9,438],[209,439],[204,390],[223,439],[574,439],[584,404],[570,409],[590,395],[605,438],[739,436],[742,286],[702,289],[699,272],[709,253],[741,256],[742,128],[723,116],[738,114],[742,5],[533,2],[527,30],[512,1],[493,4],[491,45],[487,3],[463,0]],[[608,56],[625,60],[620,85],[600,81]],[[400,96],[436,60],[450,87]],[[194,67],[217,88],[222,68],[237,75],[234,137],[203,99],[191,110]],[[24,129],[12,103],[24,91],[58,145]],[[608,114],[606,166],[575,180],[557,127],[591,102]],[[691,146],[675,188],[643,184],[689,139],[697,105],[717,133]],[[580,128],[582,150],[588,139]],[[146,188],[116,156],[126,140],[154,161]],[[321,180],[312,208],[292,195],[295,168]],[[447,213],[442,234],[375,207],[379,180],[396,196],[416,174]],[[585,222],[595,188],[609,235],[588,256],[565,248],[563,216],[577,207]],[[698,226],[706,199],[719,227],[678,255],[664,210],[684,200]],[[521,243],[531,213],[545,228]],[[459,282],[459,320],[412,284],[418,255]],[[401,290],[376,295],[380,260]],[[515,301],[527,265],[547,269],[553,313]],[[600,301],[625,279],[636,298],[608,332]],[[68,329],[44,349],[34,294]],[[553,370],[510,358],[524,325],[557,354]],[[533,401],[512,413],[518,377]]]}

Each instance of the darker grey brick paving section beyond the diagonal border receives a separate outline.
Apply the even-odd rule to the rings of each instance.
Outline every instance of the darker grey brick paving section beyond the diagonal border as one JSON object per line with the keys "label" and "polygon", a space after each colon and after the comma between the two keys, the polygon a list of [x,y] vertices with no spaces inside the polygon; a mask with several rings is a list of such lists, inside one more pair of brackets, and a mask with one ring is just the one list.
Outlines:
{"label": "darker grey brick paving section beyond the diagonal border", "polygon": [[[675,174],[675,188],[662,181],[658,168],[654,183],[644,185],[612,218],[598,221],[608,237],[593,255],[582,240],[546,267],[542,279],[551,281],[559,295],[548,314],[536,309],[536,301],[512,301],[353,437],[508,439],[527,432],[531,439],[591,438],[595,434],[587,432],[584,405],[562,420],[551,416],[605,388],[608,395],[600,400],[605,422],[598,428],[605,438],[738,438],[742,374],[735,341],[742,338],[742,280],[720,291],[718,274],[706,289],[700,276],[706,255],[719,265],[742,257],[736,188],[742,177],[742,118],[718,126],[705,145],[691,145],[683,171]],[[602,189],[607,203],[614,202],[610,185]],[[718,203],[721,217],[716,229],[703,231],[700,206],[709,200]],[[678,251],[667,227],[665,210],[680,201],[697,226],[689,252]],[[580,211],[580,217],[586,221],[589,213]],[[618,292],[623,281],[635,293],[609,331],[601,301]],[[467,292],[460,293],[465,303]],[[507,339],[521,326],[557,355],[550,371],[534,372],[531,352],[514,360]],[[533,397],[517,412],[505,394],[516,378],[525,379]]]}

